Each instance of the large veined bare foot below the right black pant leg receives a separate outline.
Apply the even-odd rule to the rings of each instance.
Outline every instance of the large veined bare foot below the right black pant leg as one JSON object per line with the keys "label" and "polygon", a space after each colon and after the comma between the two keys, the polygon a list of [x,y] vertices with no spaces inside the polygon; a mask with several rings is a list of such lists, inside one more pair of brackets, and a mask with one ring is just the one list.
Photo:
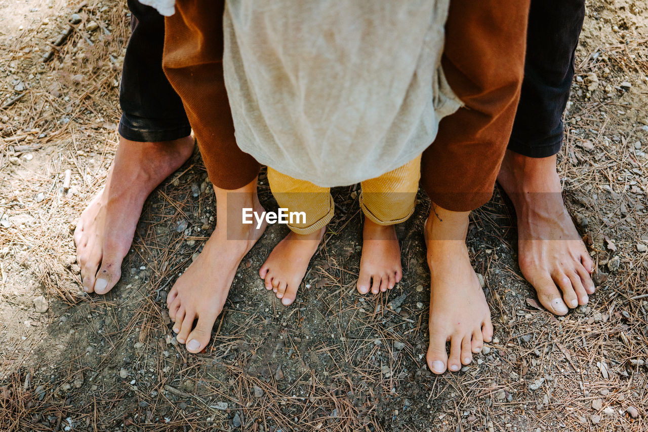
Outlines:
{"label": "large veined bare foot below the right black pant leg", "polygon": [[540,303],[555,315],[586,304],[594,263],[562,201],[556,156],[507,150],[497,180],[515,206],[520,270]]}

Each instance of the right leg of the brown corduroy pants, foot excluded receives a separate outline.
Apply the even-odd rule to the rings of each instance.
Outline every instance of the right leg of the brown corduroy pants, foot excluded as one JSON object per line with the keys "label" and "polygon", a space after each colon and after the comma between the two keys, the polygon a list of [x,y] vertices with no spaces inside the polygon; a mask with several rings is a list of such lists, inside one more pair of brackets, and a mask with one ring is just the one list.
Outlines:
{"label": "right leg of the brown corduroy pants, foot excluded", "polygon": [[529,3],[450,1],[441,61],[464,106],[441,120],[421,160],[421,186],[446,210],[492,196],[520,99]]}

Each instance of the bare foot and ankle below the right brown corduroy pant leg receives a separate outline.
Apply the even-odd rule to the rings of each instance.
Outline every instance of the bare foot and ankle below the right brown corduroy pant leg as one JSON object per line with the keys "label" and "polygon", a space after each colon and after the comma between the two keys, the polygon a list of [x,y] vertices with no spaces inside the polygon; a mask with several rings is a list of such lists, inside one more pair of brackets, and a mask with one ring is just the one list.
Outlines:
{"label": "bare foot and ankle below the right brown corduroy pant leg", "polygon": [[[470,265],[465,243],[469,212],[436,206],[425,223],[430,266],[430,346],[428,367],[443,374],[468,365],[483,341],[492,339],[491,311]],[[450,356],[446,352],[450,342]]]}

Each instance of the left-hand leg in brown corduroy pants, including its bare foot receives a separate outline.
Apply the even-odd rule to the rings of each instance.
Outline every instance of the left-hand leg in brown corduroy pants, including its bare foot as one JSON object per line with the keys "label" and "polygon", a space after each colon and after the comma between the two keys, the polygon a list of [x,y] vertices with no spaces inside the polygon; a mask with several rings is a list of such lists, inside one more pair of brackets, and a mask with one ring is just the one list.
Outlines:
{"label": "left-hand leg in brown corduroy pants, including its bare foot", "polygon": [[216,228],[167,296],[178,341],[194,353],[207,346],[238,265],[266,228],[242,223],[243,208],[263,211],[259,163],[234,137],[223,78],[223,10],[224,1],[177,1],[165,21],[165,74],[182,98],[216,193]]}

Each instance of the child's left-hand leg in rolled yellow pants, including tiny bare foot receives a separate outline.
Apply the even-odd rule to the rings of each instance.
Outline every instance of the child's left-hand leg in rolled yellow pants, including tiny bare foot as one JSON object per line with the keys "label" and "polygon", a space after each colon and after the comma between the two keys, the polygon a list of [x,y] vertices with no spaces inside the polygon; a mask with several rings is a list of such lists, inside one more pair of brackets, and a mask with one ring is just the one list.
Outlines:
{"label": "child's left-hand leg in rolled yellow pants, including tiny bare foot", "polygon": [[270,252],[259,270],[266,289],[288,306],[295,301],[310,258],[318,250],[324,230],[333,217],[333,198],[328,187],[297,180],[268,167],[268,182],[279,208],[295,215],[289,220],[290,233]]}

